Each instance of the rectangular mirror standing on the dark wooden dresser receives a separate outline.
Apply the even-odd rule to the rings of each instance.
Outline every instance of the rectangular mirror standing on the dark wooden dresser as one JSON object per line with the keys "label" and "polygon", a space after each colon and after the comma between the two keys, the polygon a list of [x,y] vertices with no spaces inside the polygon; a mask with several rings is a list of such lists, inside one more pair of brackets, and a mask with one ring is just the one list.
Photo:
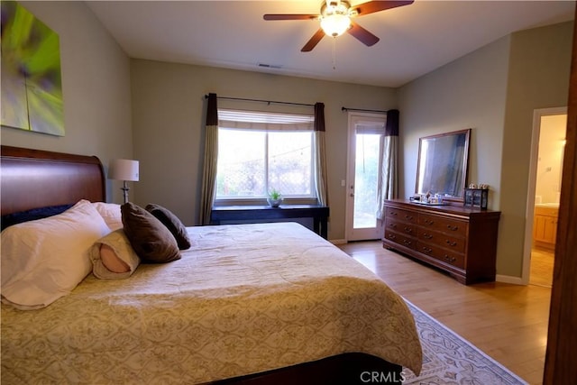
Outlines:
{"label": "rectangular mirror standing on the dark wooden dresser", "polygon": [[463,203],[471,129],[419,139],[415,193]]}

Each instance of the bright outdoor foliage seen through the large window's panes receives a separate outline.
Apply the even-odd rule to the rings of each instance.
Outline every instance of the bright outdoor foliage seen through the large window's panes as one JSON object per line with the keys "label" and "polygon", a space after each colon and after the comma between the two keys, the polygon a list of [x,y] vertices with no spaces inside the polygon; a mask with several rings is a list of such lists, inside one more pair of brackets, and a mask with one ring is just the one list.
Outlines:
{"label": "bright outdoor foliage seen through the large window's panes", "polygon": [[313,197],[313,132],[219,127],[216,198]]}

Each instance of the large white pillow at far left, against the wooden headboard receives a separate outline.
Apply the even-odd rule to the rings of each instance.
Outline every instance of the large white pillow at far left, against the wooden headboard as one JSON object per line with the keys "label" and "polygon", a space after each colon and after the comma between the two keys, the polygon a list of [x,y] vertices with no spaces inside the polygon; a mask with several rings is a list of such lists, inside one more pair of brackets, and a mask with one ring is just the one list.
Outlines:
{"label": "large white pillow at far left, against the wooden headboard", "polygon": [[47,307],[90,273],[88,250],[110,228],[87,200],[62,214],[2,232],[2,301],[23,310]]}

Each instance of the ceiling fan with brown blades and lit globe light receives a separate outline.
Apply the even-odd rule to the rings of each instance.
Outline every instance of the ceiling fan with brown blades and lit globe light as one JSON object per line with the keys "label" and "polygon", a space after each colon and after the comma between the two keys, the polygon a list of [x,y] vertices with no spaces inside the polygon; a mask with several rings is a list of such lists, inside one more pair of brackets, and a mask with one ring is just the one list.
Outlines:
{"label": "ceiling fan with brown blades and lit globe light", "polygon": [[308,52],[316,47],[321,39],[326,35],[337,37],[344,32],[349,32],[357,40],[361,41],[368,47],[374,45],[379,38],[371,32],[362,28],[355,23],[353,19],[365,14],[385,11],[390,8],[396,8],[402,5],[409,5],[413,0],[408,1],[369,1],[360,5],[351,6],[345,0],[327,0],[323,2],[320,14],[265,14],[264,20],[320,20],[321,25],[313,37],[307,41],[307,44],[301,49]]}

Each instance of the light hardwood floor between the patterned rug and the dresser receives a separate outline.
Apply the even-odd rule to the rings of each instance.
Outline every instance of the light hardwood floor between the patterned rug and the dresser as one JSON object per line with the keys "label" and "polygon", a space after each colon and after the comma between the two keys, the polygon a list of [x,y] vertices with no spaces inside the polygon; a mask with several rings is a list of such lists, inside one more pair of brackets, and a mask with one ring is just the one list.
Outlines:
{"label": "light hardwood floor between the patterned rug and the dresser", "polygon": [[383,249],[380,241],[339,247],[390,288],[530,384],[541,384],[551,289],[500,282],[464,286],[443,272]]}

